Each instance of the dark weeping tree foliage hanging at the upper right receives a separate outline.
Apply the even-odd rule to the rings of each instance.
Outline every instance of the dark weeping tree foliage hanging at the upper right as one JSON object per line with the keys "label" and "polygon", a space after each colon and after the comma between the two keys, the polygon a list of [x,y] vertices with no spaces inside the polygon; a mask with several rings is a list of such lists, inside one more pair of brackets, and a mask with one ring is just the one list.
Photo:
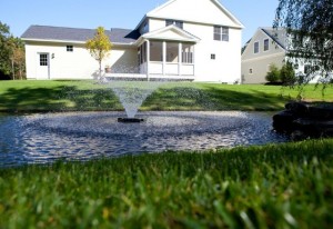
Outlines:
{"label": "dark weeping tree foliage hanging at the upper right", "polygon": [[275,28],[287,32],[287,56],[312,66],[304,81],[316,74],[324,84],[333,80],[333,1],[279,0]]}

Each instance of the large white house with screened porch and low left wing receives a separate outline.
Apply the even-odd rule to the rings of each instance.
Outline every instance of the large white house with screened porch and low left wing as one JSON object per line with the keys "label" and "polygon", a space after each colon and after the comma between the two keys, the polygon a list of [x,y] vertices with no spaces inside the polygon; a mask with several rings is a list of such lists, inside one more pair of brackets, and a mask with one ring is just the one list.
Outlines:
{"label": "large white house with screened porch and low left wing", "polygon": [[[218,0],[170,0],[134,30],[105,30],[113,43],[107,77],[234,83],[241,78],[243,24]],[[84,43],[93,29],[31,26],[23,34],[28,79],[93,79]]]}

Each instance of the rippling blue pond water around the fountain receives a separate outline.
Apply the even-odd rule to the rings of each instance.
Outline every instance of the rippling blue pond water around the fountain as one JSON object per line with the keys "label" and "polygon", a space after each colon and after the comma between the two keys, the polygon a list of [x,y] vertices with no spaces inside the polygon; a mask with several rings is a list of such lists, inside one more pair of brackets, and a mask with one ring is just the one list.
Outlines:
{"label": "rippling blue pond water around the fountain", "polygon": [[122,116],[0,114],[0,167],[287,141],[261,112],[141,112],[143,123],[117,122]]}

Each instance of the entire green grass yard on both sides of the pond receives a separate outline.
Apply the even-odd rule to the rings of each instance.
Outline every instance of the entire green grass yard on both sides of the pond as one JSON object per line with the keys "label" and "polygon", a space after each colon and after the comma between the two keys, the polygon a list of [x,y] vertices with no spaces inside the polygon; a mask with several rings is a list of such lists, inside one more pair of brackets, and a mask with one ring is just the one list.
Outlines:
{"label": "entire green grass yard on both sides of the pond", "polygon": [[[297,90],[165,83],[142,110],[276,111]],[[307,101],[333,89],[307,86]],[[92,81],[3,81],[0,111],[122,110]],[[1,149],[1,142],[0,142]],[[0,168],[0,228],[332,228],[333,140]]]}

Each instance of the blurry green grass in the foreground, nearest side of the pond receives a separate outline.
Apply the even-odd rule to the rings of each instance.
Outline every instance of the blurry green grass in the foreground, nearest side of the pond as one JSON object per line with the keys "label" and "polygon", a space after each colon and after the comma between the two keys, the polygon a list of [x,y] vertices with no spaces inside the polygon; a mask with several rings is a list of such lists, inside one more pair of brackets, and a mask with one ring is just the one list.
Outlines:
{"label": "blurry green grass in the foreground, nearest side of the pond", "polygon": [[333,140],[0,169],[0,228],[332,228]]}

